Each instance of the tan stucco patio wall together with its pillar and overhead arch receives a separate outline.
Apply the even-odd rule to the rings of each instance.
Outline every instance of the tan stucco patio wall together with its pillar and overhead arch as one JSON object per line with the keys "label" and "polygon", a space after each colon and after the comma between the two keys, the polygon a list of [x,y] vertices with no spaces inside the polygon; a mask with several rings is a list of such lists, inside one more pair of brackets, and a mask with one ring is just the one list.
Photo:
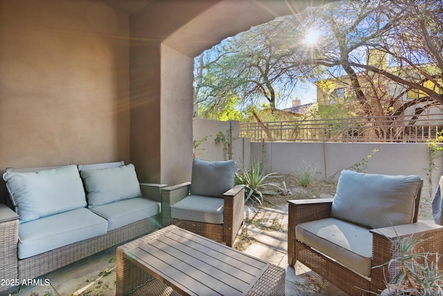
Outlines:
{"label": "tan stucco patio wall together with its pillar and overhead arch", "polygon": [[320,3],[0,0],[0,173],[124,160],[190,180],[193,58]]}

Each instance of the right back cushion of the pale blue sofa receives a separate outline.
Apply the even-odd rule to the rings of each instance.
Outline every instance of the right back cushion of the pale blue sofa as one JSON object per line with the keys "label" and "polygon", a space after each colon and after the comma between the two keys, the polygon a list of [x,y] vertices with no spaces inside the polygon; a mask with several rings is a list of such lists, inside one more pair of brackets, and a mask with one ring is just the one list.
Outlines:
{"label": "right back cushion of the pale blue sofa", "polygon": [[87,190],[89,207],[141,197],[134,164],[80,171]]}

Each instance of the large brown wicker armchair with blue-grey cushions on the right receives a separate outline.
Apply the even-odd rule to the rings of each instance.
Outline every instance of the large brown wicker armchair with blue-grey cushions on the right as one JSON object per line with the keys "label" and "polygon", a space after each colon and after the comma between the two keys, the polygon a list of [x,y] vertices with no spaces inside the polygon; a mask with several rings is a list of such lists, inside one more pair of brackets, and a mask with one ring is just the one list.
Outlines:
{"label": "large brown wicker armchair with blue-grey cushions on the right", "polygon": [[422,184],[344,170],[334,198],[289,200],[289,265],[300,261],[348,295],[380,293],[395,276],[379,265],[395,256],[397,236],[422,236],[415,252],[443,254],[443,227],[417,222]]}

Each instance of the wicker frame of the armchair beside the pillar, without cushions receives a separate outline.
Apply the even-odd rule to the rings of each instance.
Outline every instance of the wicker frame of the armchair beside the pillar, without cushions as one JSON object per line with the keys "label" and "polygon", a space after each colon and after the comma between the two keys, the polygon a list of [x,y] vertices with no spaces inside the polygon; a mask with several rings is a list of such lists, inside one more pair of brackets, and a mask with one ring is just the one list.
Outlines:
{"label": "wicker frame of the armchair beside the pillar, without cushions", "polygon": [[171,205],[186,198],[190,192],[190,182],[162,189],[161,207],[163,226],[177,225],[214,241],[232,247],[235,236],[244,220],[244,186],[237,185],[224,193],[223,224],[200,223],[171,218]]}

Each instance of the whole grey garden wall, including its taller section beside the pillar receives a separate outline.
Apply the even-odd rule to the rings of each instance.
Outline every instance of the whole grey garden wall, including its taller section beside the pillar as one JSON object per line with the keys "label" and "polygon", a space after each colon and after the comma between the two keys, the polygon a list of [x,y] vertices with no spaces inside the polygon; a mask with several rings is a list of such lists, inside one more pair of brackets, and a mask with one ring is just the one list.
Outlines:
{"label": "whole grey garden wall, including its taller section beside the pillar", "polygon": [[[366,162],[366,173],[386,175],[419,175],[424,180],[423,196],[428,196],[429,155],[424,143],[299,143],[299,142],[253,142],[238,138],[237,121],[211,121],[194,119],[194,141],[199,142],[195,157],[210,161],[227,159],[224,146],[216,144],[217,132],[225,134],[233,125],[234,159],[237,166],[246,160],[246,167],[252,159],[264,159],[266,173],[294,174],[303,166],[316,167],[318,180],[337,181],[338,171],[350,168],[372,155]],[[201,141],[206,137],[206,141]],[[373,153],[373,150],[377,152]],[[373,153],[373,154],[372,154]],[[440,176],[443,175],[443,157],[435,159],[433,188],[435,193]],[[362,168],[362,167],[361,167]]]}

